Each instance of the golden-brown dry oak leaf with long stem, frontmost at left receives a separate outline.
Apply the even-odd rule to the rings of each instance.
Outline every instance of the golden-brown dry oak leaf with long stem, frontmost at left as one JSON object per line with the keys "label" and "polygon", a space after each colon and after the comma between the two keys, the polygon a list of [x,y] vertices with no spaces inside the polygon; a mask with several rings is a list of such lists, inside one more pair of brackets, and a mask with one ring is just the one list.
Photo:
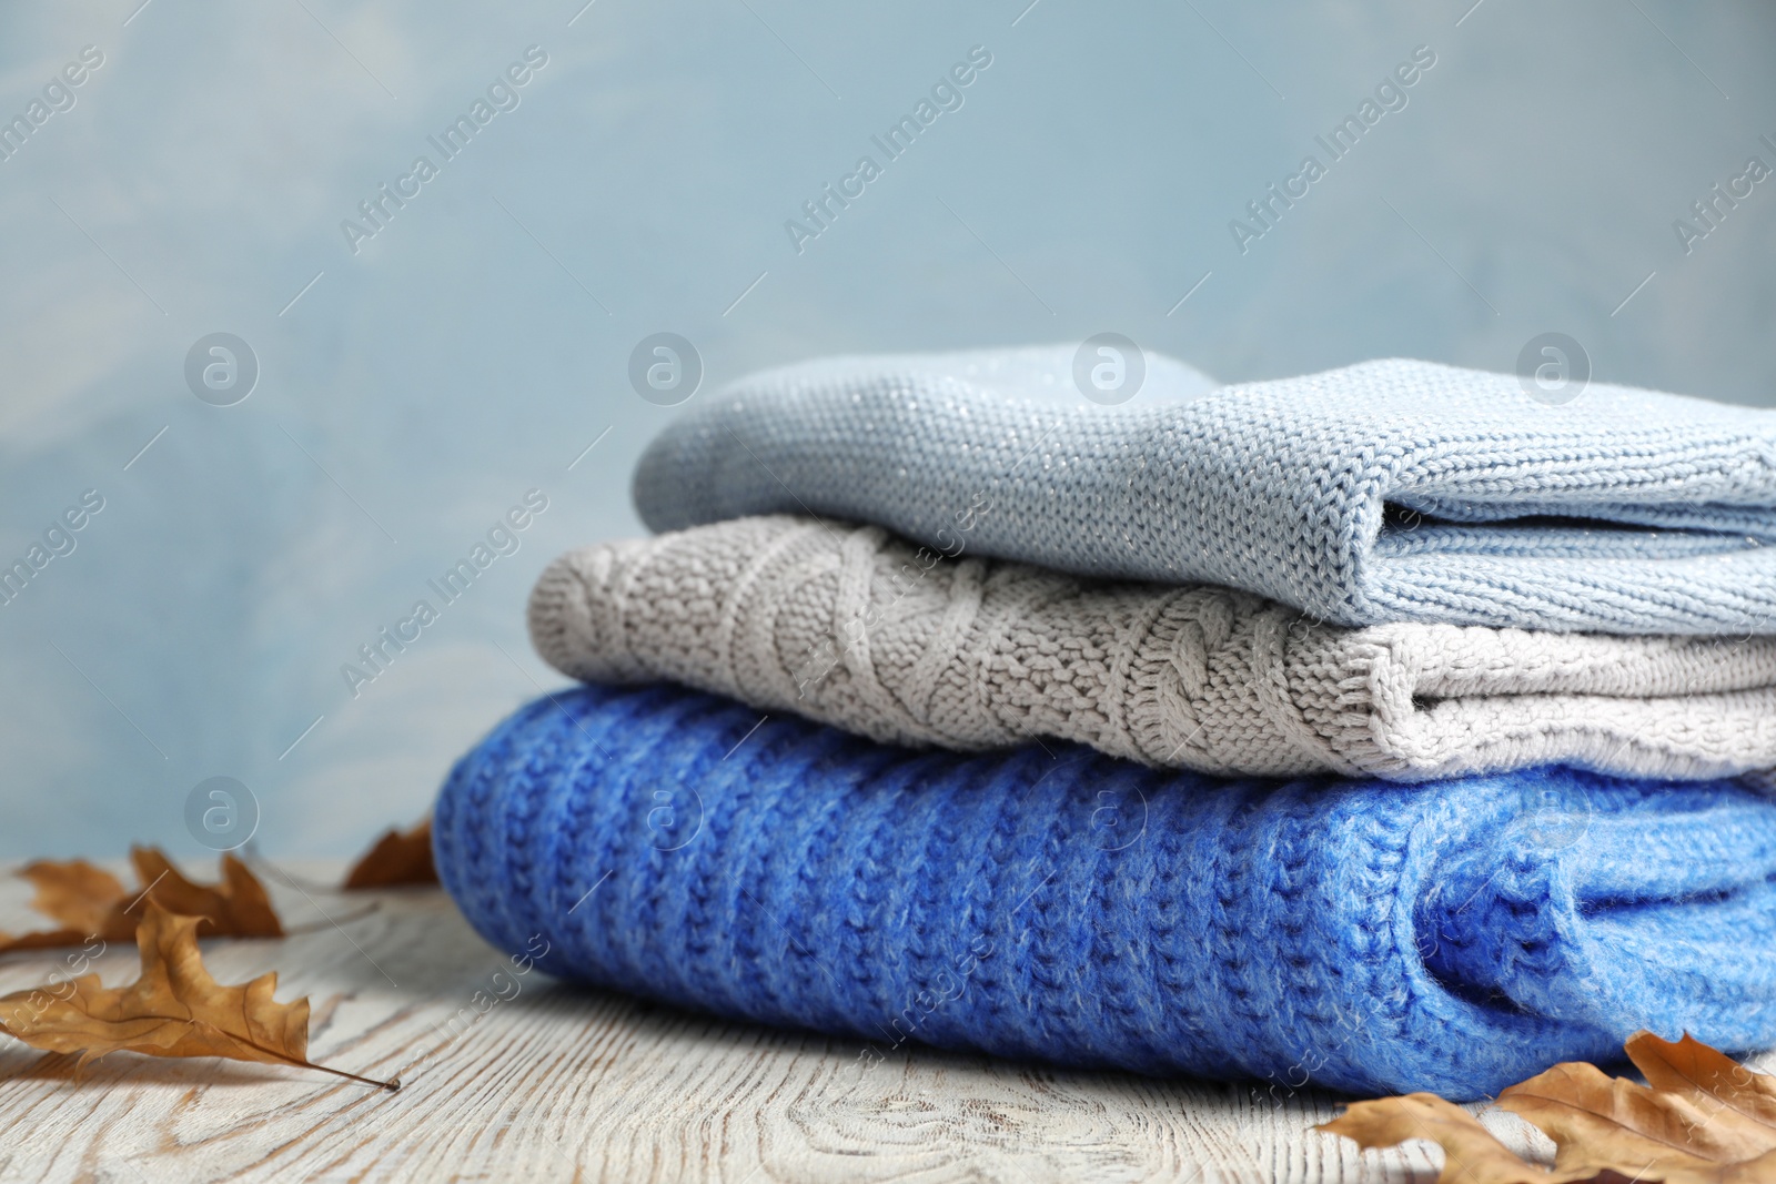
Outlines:
{"label": "golden-brown dry oak leaf with long stem, frontmost at left", "polygon": [[266,1065],[320,1069],[339,1077],[398,1090],[309,1060],[309,1001],[277,1003],[277,975],[224,987],[204,969],[197,927],[149,900],[135,930],[142,976],[105,987],[82,975],[55,987],[0,996],[0,1031],[50,1053],[80,1053],[80,1065],[107,1053],[226,1056]]}

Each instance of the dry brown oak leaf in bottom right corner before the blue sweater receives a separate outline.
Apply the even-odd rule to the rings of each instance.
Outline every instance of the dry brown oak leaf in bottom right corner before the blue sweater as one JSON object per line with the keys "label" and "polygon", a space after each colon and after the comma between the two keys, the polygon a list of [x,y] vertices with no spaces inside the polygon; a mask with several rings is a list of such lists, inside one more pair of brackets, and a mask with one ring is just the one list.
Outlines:
{"label": "dry brown oak leaf in bottom right corner before the blue sweater", "polygon": [[1474,1115],[1431,1093],[1353,1102],[1320,1129],[1359,1147],[1424,1138],[1444,1148],[1439,1184],[1776,1182],[1776,1077],[1685,1035],[1639,1031],[1623,1046],[1648,1083],[1568,1062],[1499,1093],[1497,1106],[1556,1147],[1554,1168],[1526,1163]]}

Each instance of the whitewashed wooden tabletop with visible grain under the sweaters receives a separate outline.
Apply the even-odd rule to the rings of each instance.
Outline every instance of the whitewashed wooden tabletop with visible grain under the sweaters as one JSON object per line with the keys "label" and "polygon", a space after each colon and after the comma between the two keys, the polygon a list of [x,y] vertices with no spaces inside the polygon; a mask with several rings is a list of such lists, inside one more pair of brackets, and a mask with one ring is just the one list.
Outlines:
{"label": "whitewashed wooden tabletop with visible grain under the sweaters", "polygon": [[[186,864],[194,875],[208,866]],[[531,973],[472,1022],[504,959],[435,889],[332,893],[339,864],[265,873],[277,941],[206,941],[222,982],[279,971],[313,1003],[309,1056],[337,1077],[119,1053],[75,1070],[0,1037],[0,1180],[1408,1180],[1439,1152],[1359,1154],[1309,1131],[1321,1093],[1064,1072],[732,1024]],[[0,928],[36,928],[23,886]],[[330,918],[330,920],[329,920]],[[0,991],[57,953],[0,960]],[[130,982],[131,948],[98,962]],[[506,980],[499,991],[511,994]],[[467,1008],[467,1010],[464,1010]],[[458,1017],[453,1033],[451,1017]],[[1506,1115],[1511,1141],[1540,1140]],[[1518,1143],[1522,1145],[1522,1143]]]}

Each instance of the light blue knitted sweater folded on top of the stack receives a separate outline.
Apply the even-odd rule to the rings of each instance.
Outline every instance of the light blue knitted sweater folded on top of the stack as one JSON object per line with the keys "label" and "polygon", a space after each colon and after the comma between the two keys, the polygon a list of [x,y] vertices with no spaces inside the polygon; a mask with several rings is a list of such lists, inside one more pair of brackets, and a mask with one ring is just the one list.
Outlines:
{"label": "light blue knitted sweater folded on top of the stack", "polygon": [[1776,412],[1384,360],[1067,407],[884,359],[744,378],[636,470],[654,531],[758,513],[1227,584],[1337,625],[1776,632]]}

